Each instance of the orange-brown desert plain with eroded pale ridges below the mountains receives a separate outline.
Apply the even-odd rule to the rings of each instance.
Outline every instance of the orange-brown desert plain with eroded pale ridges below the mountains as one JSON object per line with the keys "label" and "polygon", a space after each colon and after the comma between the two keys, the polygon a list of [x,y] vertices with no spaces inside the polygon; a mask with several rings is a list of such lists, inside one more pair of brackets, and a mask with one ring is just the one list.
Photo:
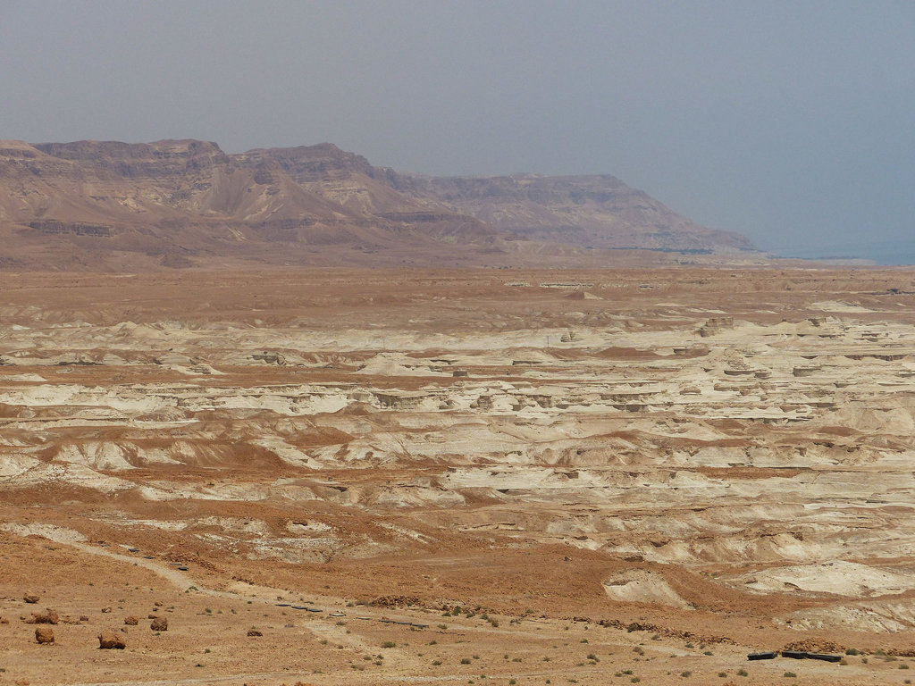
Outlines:
{"label": "orange-brown desert plain with eroded pale ridges below the mountains", "polygon": [[913,271],[2,272],[0,684],[908,683],[913,465]]}

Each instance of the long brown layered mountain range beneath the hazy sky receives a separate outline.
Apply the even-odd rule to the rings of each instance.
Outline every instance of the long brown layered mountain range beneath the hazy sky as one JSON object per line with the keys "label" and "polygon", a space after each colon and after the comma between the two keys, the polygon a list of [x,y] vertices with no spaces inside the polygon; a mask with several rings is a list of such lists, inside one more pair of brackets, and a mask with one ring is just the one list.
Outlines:
{"label": "long brown layered mountain range beneath the hazy sky", "polygon": [[[582,248],[750,247],[613,177],[430,179],[335,145],[0,141],[0,266],[485,263],[517,239]],[[459,247],[458,247],[459,246]],[[333,248],[334,250],[331,250]],[[575,249],[540,250],[573,254]]]}

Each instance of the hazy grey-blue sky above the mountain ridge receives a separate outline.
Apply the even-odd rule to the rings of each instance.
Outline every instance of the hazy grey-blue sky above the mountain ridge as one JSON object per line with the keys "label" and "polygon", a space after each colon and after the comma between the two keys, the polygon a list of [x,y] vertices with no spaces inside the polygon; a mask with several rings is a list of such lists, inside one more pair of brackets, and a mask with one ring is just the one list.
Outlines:
{"label": "hazy grey-blue sky above the mountain ridge", "polygon": [[0,0],[0,138],[609,173],[765,249],[915,242],[915,2]]}

